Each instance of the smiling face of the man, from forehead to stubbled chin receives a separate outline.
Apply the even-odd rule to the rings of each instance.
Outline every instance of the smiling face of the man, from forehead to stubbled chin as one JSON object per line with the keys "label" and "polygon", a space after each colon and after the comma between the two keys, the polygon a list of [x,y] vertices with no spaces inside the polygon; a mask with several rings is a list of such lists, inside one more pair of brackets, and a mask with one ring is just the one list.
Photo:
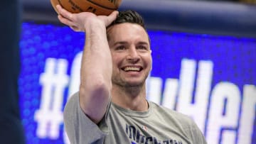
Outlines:
{"label": "smiling face of the man, from forehead to stubbled chin", "polygon": [[112,83],[122,87],[142,86],[151,70],[149,37],[134,23],[121,23],[109,30]]}

